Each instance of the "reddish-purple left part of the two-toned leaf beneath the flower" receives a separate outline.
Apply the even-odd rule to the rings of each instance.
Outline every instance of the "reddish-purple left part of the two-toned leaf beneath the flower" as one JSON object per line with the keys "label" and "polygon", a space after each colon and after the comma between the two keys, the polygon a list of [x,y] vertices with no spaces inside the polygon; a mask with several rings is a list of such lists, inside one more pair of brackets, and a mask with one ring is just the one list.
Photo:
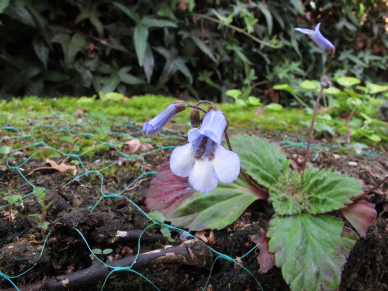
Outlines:
{"label": "reddish-purple left part of the two-toned leaf beneath the flower", "polygon": [[168,217],[168,213],[194,193],[197,191],[191,187],[189,179],[174,175],[170,164],[164,163],[150,182],[145,203],[148,210],[159,211]]}

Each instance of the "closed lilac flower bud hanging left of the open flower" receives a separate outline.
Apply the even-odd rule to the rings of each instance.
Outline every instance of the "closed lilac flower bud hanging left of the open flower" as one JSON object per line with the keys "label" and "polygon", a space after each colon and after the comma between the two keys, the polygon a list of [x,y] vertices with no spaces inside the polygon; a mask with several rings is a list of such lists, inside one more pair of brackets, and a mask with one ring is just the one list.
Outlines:
{"label": "closed lilac flower bud hanging left of the open flower", "polygon": [[151,134],[161,130],[175,114],[185,110],[186,108],[187,104],[182,100],[171,103],[161,113],[144,124],[143,133],[146,136],[150,136]]}

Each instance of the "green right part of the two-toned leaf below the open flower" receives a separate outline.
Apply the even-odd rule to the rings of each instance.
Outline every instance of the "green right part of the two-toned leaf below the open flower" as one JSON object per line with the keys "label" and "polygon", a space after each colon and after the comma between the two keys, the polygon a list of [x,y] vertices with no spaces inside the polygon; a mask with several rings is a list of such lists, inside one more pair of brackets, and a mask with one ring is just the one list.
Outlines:
{"label": "green right part of the two-toned leaf below the open flower", "polygon": [[257,199],[260,197],[255,189],[240,175],[233,183],[220,182],[209,193],[188,197],[165,218],[190,230],[221,229],[236,221]]}

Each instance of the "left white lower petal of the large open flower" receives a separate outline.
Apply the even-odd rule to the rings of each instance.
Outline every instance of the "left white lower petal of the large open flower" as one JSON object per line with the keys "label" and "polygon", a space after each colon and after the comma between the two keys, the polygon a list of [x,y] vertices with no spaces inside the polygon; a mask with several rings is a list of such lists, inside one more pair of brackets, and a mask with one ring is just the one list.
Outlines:
{"label": "left white lower petal of the large open flower", "polygon": [[171,153],[170,169],[179,177],[187,177],[193,170],[195,150],[192,144],[176,147]]}

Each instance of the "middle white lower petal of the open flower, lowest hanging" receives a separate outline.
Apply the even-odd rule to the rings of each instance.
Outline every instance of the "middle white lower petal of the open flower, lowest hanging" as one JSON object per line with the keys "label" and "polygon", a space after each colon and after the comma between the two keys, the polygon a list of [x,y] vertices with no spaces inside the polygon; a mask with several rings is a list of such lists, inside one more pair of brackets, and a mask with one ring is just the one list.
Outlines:
{"label": "middle white lower petal of the open flower, lowest hanging", "polygon": [[201,193],[208,193],[218,185],[218,179],[213,171],[211,161],[196,160],[189,175],[189,182],[193,188]]}

